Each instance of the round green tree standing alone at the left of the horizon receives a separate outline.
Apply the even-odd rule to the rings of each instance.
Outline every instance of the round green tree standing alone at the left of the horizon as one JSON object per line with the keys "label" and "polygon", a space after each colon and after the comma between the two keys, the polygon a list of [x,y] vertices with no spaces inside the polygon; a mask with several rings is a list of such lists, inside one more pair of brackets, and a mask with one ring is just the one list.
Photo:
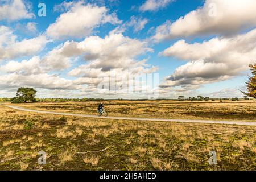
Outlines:
{"label": "round green tree standing alone at the left of the horizon", "polygon": [[16,96],[12,102],[35,102],[36,90],[34,88],[20,87],[16,92]]}

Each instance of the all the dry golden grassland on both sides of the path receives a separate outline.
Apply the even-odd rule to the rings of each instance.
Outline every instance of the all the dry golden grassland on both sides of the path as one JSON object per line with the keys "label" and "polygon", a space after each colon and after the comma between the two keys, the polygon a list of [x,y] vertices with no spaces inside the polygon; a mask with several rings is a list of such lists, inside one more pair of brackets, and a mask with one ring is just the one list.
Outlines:
{"label": "all the dry golden grassland on both sides of the path", "polygon": [[[0,105],[0,170],[256,170],[256,127],[62,117]],[[98,102],[16,104],[97,114]],[[256,102],[104,101],[109,115],[256,121]],[[7,104],[11,105],[11,104]],[[45,165],[38,152],[45,151]],[[217,165],[208,163],[217,152]]]}

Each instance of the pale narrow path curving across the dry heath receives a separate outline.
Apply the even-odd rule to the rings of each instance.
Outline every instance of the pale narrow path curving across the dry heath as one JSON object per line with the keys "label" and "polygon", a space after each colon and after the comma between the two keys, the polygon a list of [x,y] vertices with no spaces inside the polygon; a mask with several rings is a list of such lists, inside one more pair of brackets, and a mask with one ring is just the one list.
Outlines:
{"label": "pale narrow path curving across the dry heath", "polygon": [[72,114],[72,113],[59,113],[59,112],[53,112],[53,111],[32,110],[32,109],[26,109],[24,107],[19,107],[19,106],[7,106],[7,107],[10,107],[10,108],[16,109],[16,110],[35,112],[35,113],[71,115],[71,116],[86,117],[86,118],[123,119],[123,120],[134,120],[134,121],[164,121],[164,122],[183,122],[183,123],[210,123],[210,124],[224,124],[224,125],[256,126],[256,122],[245,122],[245,121],[212,121],[212,120],[195,120],[195,119],[131,118],[131,117],[117,117],[117,116],[99,117],[98,115],[90,115],[90,114]]}

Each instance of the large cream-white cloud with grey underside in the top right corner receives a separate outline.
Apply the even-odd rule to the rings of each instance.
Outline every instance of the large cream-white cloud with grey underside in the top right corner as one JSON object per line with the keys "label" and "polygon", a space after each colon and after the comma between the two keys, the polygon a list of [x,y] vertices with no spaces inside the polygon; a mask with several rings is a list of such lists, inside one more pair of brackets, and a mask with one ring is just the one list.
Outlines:
{"label": "large cream-white cloud with grey underside in the top right corner", "polygon": [[256,26],[255,7],[254,0],[206,0],[203,7],[156,28],[154,40],[210,34],[230,36]]}

